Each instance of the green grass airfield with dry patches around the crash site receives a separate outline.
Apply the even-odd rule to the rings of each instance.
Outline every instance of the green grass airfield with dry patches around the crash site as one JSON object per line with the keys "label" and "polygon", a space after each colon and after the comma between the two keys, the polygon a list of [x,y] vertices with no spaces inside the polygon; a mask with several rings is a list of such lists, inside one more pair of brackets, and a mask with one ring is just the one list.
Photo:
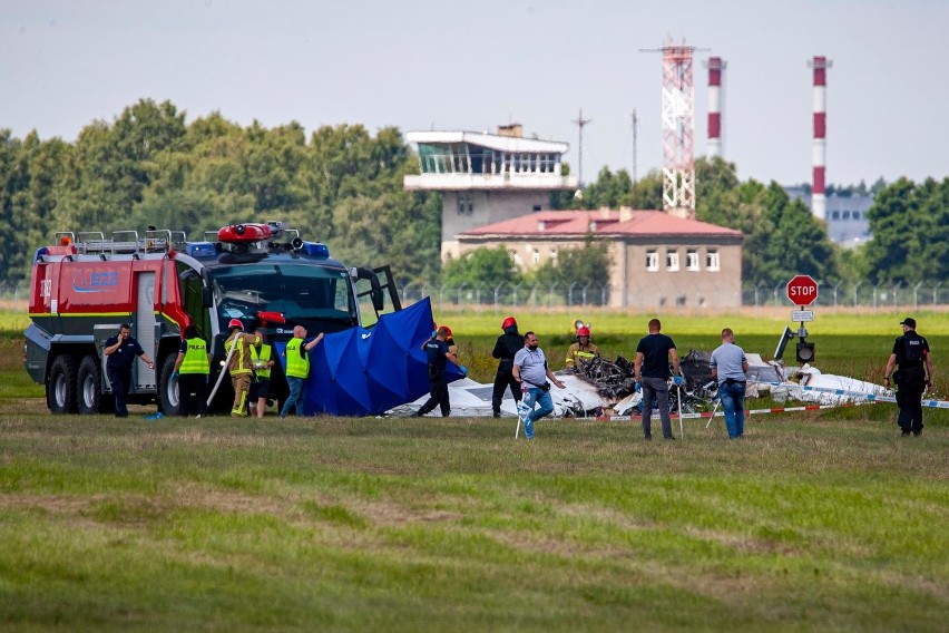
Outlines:
{"label": "green grass airfield with dry patches around the crash site", "polygon": [[[879,378],[893,316],[809,327],[816,364]],[[917,318],[938,383],[946,319]],[[626,356],[647,319],[588,320]],[[679,350],[728,324],[769,357],[784,324],[769,319],[664,323]],[[566,349],[570,315],[519,320]],[[496,315],[440,321],[487,380]],[[53,417],[16,328],[0,338],[2,631],[946,630],[946,410],[920,438],[878,405],[753,417],[738,442],[704,420],[674,442],[542,420],[530,445],[513,420]]]}

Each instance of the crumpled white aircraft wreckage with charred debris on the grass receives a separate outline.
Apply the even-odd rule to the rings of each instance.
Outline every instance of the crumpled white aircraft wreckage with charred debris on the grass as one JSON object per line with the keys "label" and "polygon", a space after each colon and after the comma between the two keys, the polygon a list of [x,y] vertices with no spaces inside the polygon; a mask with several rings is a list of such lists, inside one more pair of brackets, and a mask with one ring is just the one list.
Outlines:
{"label": "crumpled white aircraft wreckage with charred debris on the grass", "polygon": [[[782,337],[783,339],[784,337]],[[780,350],[780,351],[779,351]],[[781,345],[775,357],[783,352]],[[712,352],[691,350],[681,360],[685,384],[669,387],[669,410],[684,413],[714,411],[717,406],[717,384],[712,379],[708,360]],[[804,364],[785,367],[781,360],[764,361],[761,354],[746,353],[749,359],[747,397],[759,398],[770,393],[776,402],[796,400],[816,405],[845,405],[869,400],[889,400],[893,391],[879,384],[845,376],[823,373]],[[633,416],[642,410],[642,393],[635,390],[633,362],[617,357],[610,362],[603,358],[579,360],[576,369],[555,372],[566,389],[550,389],[554,401],[552,418],[595,418],[597,416]],[[470,378],[448,386],[452,417],[491,417],[491,383],[480,383]],[[682,409],[679,409],[679,398]],[[428,395],[414,402],[391,409],[387,415],[411,416],[428,400]],[[429,413],[439,416],[438,409]],[[501,415],[517,417],[517,407],[510,391],[505,391]]]}

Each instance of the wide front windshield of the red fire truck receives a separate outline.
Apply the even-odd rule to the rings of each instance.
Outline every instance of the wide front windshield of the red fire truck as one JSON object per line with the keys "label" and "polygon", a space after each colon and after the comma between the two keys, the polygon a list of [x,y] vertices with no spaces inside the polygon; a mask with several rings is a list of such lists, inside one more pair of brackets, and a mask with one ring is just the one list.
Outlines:
{"label": "wide front windshield of the red fire truck", "polygon": [[333,330],[359,323],[352,282],[344,270],[297,264],[242,264],[212,272],[222,328],[231,319],[252,320],[261,311],[287,321],[324,323]]}

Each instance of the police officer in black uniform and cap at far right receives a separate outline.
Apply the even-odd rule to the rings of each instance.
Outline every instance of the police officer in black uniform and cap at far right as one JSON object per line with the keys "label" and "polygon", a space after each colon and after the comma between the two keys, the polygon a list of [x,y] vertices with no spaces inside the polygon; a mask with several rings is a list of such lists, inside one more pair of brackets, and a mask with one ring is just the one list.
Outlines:
{"label": "police officer in black uniform and cap at far right", "polygon": [[[903,335],[897,337],[893,351],[883,370],[883,383],[897,383],[897,407],[900,409],[898,423],[902,436],[922,435],[922,393],[932,390],[932,358],[929,342],[916,333],[916,319],[907,316],[900,321]],[[900,368],[894,372],[893,368]]]}

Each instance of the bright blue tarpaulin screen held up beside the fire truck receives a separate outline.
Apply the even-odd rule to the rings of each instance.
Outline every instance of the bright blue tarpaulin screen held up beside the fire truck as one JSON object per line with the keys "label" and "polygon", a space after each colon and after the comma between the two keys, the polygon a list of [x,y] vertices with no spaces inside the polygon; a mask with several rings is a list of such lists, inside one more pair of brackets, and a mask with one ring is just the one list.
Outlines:
{"label": "bright blue tarpaulin screen held up beside the fire truck", "polygon": [[[431,301],[383,314],[371,329],[326,334],[310,352],[304,416],[379,416],[429,392],[422,344],[432,335]],[[286,343],[274,345],[286,369]],[[448,381],[461,372],[448,363]]]}

